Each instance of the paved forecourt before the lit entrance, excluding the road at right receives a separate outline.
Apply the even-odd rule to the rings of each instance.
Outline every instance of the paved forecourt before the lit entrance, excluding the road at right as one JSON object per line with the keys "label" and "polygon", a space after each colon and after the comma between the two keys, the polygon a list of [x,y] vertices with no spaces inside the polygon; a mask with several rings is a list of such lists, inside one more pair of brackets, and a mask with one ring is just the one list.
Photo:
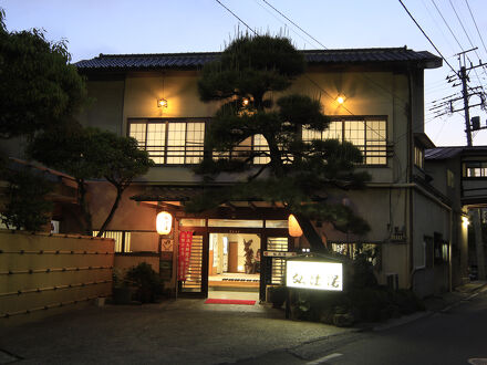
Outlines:
{"label": "paved forecourt before the lit entrance, excluding the road at right", "polygon": [[351,331],[287,321],[267,305],[203,303],[92,305],[2,328],[0,350],[19,364],[219,364]]}

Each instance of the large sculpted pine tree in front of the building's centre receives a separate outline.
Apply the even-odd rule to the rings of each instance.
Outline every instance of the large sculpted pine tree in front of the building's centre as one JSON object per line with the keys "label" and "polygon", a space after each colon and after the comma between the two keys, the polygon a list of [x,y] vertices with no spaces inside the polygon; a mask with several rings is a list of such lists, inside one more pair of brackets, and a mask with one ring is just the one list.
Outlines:
{"label": "large sculpted pine tree in front of the building's centre", "polygon": [[[366,174],[354,173],[362,161],[361,152],[348,142],[302,140],[303,128],[320,132],[330,124],[320,101],[288,94],[274,102],[276,92],[286,91],[304,67],[303,55],[288,39],[269,35],[240,36],[219,61],[205,65],[198,83],[200,98],[222,102],[211,119],[206,145],[225,157],[206,158],[196,171],[209,182],[220,173],[247,174],[231,188],[207,190],[193,199],[188,211],[250,198],[280,201],[297,217],[311,247],[321,251],[324,246],[312,220],[329,221],[346,232],[369,229],[349,207],[315,198],[328,188],[358,188],[369,179]],[[242,147],[256,136],[268,148]],[[255,165],[256,158],[266,163]]]}

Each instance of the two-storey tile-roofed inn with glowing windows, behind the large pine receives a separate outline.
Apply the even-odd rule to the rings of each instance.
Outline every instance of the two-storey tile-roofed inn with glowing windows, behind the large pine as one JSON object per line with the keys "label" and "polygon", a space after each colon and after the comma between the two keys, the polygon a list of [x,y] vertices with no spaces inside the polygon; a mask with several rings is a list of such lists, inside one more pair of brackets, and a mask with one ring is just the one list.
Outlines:
{"label": "two-storey tile-roofed inn with glowing windows, behind the large pine", "polygon": [[[372,176],[365,190],[328,191],[329,199],[349,205],[364,217],[371,231],[356,237],[315,222],[327,244],[350,255],[355,249],[375,252],[373,262],[381,283],[413,288],[419,295],[446,291],[462,282],[467,273],[466,257],[457,255],[466,247],[460,205],[448,191],[432,186],[424,169],[424,150],[434,145],[424,134],[423,73],[439,67],[442,60],[406,48],[302,52],[308,70],[289,92],[320,98],[333,123],[319,137],[358,145],[364,154],[360,168]],[[135,137],[157,164],[125,192],[108,227],[120,252],[115,265],[152,260],[156,267],[159,263],[160,273],[175,288],[174,248],[179,233],[189,230],[194,232],[189,274],[179,293],[205,296],[208,289],[239,283],[259,288],[263,299],[266,286],[281,281],[286,252],[308,247],[303,238],[289,237],[289,212],[282,205],[258,199],[231,201],[203,215],[188,215],[182,207],[203,188],[191,165],[206,153],[205,132],[219,104],[199,100],[197,81],[201,66],[218,56],[101,54],[77,62],[94,98],[93,107],[80,119],[86,126]],[[338,96],[344,96],[343,104],[338,103]],[[159,106],[160,100],[166,106]],[[317,137],[307,131],[302,136]],[[241,148],[267,146],[256,137]],[[255,161],[262,163],[266,160]],[[459,176],[456,170],[454,174]],[[446,180],[438,173],[434,185]],[[222,176],[214,185],[232,181]],[[90,192],[96,229],[115,191],[107,184],[96,182]],[[173,213],[175,222],[169,236],[159,237],[155,221],[163,209]],[[256,265],[249,277],[244,274],[244,242],[255,252]],[[255,260],[258,250],[260,261]]]}

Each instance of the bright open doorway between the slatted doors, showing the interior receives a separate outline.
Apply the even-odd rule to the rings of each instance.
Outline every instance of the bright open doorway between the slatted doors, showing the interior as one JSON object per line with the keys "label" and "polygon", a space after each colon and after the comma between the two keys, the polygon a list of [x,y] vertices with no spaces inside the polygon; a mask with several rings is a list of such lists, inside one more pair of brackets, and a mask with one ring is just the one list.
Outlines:
{"label": "bright open doorway between the slatted doors, showing the interior", "polygon": [[260,234],[209,233],[208,298],[259,300],[260,262]]}

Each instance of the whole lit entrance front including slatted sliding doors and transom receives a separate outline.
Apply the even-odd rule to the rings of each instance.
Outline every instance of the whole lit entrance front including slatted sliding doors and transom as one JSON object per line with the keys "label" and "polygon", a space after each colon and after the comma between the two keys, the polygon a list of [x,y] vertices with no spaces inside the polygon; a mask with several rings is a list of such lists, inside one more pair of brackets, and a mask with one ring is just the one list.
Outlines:
{"label": "whole lit entrance front including slatted sliding doors and transom", "polygon": [[182,218],[183,231],[193,232],[183,296],[265,301],[294,250],[284,219]]}

